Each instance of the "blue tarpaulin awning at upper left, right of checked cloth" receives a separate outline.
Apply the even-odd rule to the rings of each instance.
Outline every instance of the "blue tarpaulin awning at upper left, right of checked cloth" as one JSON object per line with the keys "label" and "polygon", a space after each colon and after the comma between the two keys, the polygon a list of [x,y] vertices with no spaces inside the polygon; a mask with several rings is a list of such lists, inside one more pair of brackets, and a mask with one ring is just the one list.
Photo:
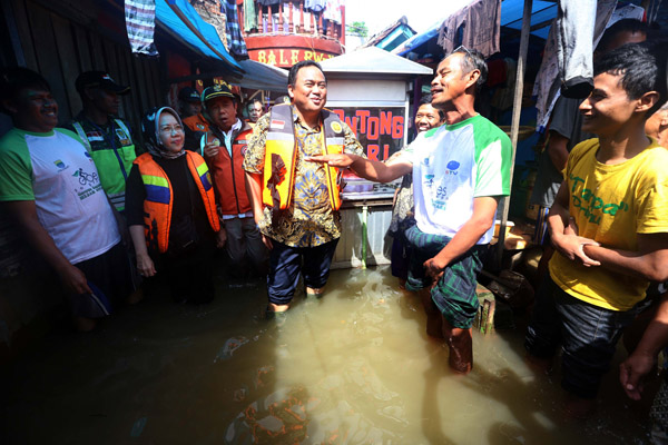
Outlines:
{"label": "blue tarpaulin awning at upper left, right of checked cloth", "polygon": [[156,22],[193,51],[218,62],[220,75],[240,77],[244,69],[225,49],[216,29],[186,0],[156,0]]}

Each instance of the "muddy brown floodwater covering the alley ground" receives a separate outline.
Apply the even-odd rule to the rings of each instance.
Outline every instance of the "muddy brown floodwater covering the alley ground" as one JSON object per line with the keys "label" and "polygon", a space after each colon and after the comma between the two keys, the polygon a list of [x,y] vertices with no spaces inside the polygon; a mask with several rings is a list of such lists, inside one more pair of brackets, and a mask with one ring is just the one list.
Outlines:
{"label": "muddy brown floodwater covering the alley ground", "polygon": [[[564,422],[559,370],[523,363],[523,328],[474,335],[448,370],[418,298],[389,268],[334,270],[322,299],[265,320],[265,287],[219,283],[195,307],[148,298],[89,335],[65,329],[2,384],[3,444],[642,444],[649,403],[606,378]],[[617,363],[623,358],[619,350]]]}

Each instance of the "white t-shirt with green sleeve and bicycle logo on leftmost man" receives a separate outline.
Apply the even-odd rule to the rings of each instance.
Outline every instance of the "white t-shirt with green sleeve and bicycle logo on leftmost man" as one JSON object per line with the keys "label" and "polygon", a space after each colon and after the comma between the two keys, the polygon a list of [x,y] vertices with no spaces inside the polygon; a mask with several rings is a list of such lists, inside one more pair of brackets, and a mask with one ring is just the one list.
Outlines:
{"label": "white t-shirt with green sleeve and bicycle logo on leftmost man", "polygon": [[71,131],[12,129],[0,139],[0,201],[33,200],[56,247],[72,264],[120,240],[90,155]]}

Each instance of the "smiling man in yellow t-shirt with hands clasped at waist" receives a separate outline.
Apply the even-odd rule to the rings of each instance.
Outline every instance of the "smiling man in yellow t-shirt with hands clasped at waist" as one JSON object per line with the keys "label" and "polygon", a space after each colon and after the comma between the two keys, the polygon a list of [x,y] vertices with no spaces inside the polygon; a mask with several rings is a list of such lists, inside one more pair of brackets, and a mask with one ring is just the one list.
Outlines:
{"label": "smiling man in yellow t-shirt with hands clasped at waist", "polygon": [[621,332],[649,280],[668,279],[668,151],[645,135],[666,101],[665,60],[627,44],[595,67],[580,105],[590,139],[571,151],[548,225],[560,255],[537,296],[525,347],[548,368],[561,344],[567,412],[591,414]]}

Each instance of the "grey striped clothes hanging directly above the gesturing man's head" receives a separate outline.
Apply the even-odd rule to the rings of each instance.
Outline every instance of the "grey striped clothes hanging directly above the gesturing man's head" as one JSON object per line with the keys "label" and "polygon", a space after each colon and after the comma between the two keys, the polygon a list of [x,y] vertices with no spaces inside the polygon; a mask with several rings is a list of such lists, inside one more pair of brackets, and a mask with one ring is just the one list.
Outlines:
{"label": "grey striped clothes hanging directly above the gesturing man's head", "polygon": [[446,55],[462,44],[488,58],[500,51],[500,37],[501,0],[474,0],[443,21],[438,43]]}

